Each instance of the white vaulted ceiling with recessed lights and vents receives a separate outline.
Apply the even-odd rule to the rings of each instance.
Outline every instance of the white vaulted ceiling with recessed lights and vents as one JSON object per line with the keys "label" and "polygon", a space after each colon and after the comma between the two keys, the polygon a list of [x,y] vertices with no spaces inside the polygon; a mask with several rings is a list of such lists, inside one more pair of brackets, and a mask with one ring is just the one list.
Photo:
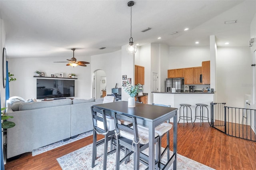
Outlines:
{"label": "white vaulted ceiling with recessed lights and vents", "polygon": [[[128,0],[0,0],[9,58],[91,56],[121,49],[130,39]],[[135,0],[134,43],[169,46],[248,46],[255,0]],[[224,24],[237,20],[236,24]],[[141,32],[145,28],[152,28]],[[185,28],[189,30],[184,31]],[[178,32],[169,35],[172,32]],[[158,39],[161,37],[161,39]],[[195,42],[198,41],[198,44]],[[106,47],[105,49],[99,49]]]}

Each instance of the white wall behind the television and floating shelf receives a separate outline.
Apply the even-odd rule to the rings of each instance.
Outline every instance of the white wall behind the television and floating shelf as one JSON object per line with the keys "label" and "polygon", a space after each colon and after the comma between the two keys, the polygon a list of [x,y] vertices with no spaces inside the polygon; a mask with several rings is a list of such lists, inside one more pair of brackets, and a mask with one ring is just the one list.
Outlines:
{"label": "white wall behind the television and floating shelf", "polygon": [[[90,57],[83,57],[78,60],[90,61]],[[75,80],[75,98],[90,99],[91,97],[91,64],[87,67],[66,66],[66,63],[53,63],[53,61],[65,61],[63,57],[46,58],[15,58],[8,60],[8,71],[14,74],[17,79],[10,82],[10,97],[20,96],[24,99],[36,98],[36,78],[34,71],[42,71],[46,77],[51,77],[54,73],[64,73],[68,77],[70,73],[76,73],[78,79]]]}

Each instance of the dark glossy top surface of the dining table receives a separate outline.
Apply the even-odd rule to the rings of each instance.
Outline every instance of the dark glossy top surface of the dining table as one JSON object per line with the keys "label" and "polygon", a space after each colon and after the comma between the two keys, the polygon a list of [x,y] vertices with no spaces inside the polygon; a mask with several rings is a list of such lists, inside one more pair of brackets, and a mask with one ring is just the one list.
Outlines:
{"label": "dark glossy top surface of the dining table", "polygon": [[142,103],[135,103],[135,107],[128,107],[127,101],[118,101],[113,103],[104,103],[94,105],[95,107],[101,107],[103,109],[116,111],[117,113],[123,113],[127,115],[134,115],[138,118],[144,119],[145,121],[156,121],[167,114],[174,113],[178,110],[172,107],[162,107],[156,105],[148,105]]}

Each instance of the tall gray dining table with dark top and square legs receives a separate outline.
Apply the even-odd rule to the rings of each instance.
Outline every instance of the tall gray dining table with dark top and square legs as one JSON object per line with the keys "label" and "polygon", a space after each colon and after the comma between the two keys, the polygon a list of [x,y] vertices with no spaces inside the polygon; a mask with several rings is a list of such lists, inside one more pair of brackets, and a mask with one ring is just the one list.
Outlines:
{"label": "tall gray dining table with dark top and square legs", "polygon": [[[173,118],[173,154],[167,162],[157,162],[158,169],[168,169],[173,164],[173,170],[177,169],[177,108],[135,103],[135,107],[128,107],[127,101],[117,101],[93,105],[93,107],[104,109],[106,115],[113,116],[115,113],[130,117],[136,117],[139,125],[149,129],[148,143],[148,169],[155,169],[155,127]],[[159,155],[158,155],[159,156]]]}

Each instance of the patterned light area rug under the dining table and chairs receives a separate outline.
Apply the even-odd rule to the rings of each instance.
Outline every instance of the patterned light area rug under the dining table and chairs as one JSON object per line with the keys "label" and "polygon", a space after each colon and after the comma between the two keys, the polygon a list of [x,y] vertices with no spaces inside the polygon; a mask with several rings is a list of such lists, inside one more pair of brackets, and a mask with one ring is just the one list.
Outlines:
{"label": "patterned light area rug under the dining table and chairs", "polygon": [[[109,146],[109,145],[108,145]],[[110,148],[108,148],[109,150]],[[164,149],[164,148],[162,148]],[[62,170],[102,170],[103,169],[103,150],[104,144],[97,147],[97,160],[95,161],[95,167],[92,168],[92,144],[80,148],[74,152],[66,154],[60,158],[57,158],[58,163],[60,164]],[[148,150],[144,151],[145,153]],[[172,151],[170,151],[172,154]],[[124,153],[121,152],[121,158],[124,156]],[[196,162],[192,159],[186,158],[180,154],[178,157],[178,169],[180,170],[214,170],[204,164]],[[162,161],[166,162],[167,153],[163,156]],[[107,158],[107,170],[114,170],[116,164],[116,153],[108,155]],[[140,163],[140,169],[145,169],[146,166]],[[130,162],[120,165],[122,170],[133,169],[133,155],[131,156]],[[172,170],[172,166],[169,168]]]}

